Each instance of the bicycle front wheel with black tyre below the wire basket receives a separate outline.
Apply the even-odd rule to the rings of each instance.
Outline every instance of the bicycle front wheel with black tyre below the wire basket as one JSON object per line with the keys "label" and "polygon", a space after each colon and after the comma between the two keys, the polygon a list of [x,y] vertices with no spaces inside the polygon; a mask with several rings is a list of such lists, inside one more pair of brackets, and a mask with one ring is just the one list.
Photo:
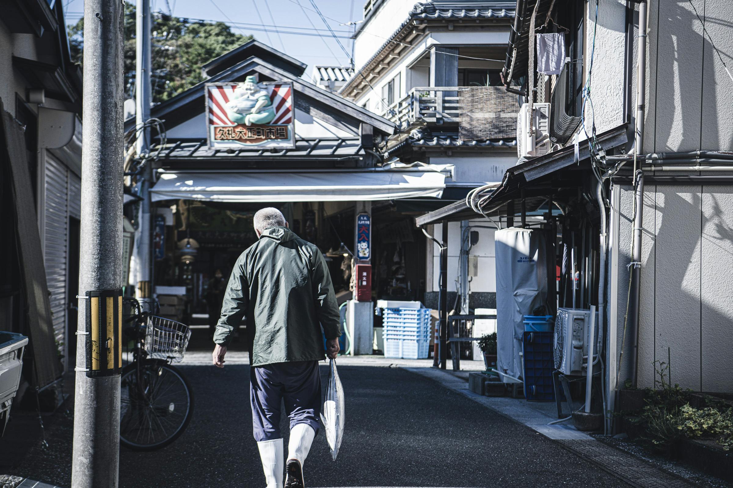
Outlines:
{"label": "bicycle front wheel with black tyre below the wire basket", "polygon": [[183,434],[194,413],[194,394],[188,380],[166,361],[145,361],[141,385],[135,366],[122,369],[119,442],[135,451],[152,451]]}

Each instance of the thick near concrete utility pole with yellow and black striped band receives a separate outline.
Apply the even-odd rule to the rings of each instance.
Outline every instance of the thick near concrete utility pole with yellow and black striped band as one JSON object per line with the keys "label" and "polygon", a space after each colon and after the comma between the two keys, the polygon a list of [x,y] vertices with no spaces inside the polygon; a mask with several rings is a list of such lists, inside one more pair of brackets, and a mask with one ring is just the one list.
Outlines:
{"label": "thick near concrete utility pole with yellow and black striped band", "polygon": [[119,468],[119,366],[122,364],[121,299],[118,297],[122,293],[122,154],[125,149],[124,5],[119,0],[85,0],[84,12],[79,296],[90,298],[79,299],[71,486],[114,488]]}

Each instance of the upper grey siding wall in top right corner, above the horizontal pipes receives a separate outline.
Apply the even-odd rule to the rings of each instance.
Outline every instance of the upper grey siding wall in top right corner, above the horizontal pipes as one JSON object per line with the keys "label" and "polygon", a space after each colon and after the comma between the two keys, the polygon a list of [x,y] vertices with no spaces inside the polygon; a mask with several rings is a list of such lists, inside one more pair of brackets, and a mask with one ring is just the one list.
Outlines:
{"label": "upper grey siding wall in top right corner, above the horizontal pipes", "polygon": [[[730,2],[693,4],[715,47],[728,58],[733,53],[733,32],[725,21]],[[651,1],[648,34],[644,151],[732,150],[733,81],[692,5]]]}

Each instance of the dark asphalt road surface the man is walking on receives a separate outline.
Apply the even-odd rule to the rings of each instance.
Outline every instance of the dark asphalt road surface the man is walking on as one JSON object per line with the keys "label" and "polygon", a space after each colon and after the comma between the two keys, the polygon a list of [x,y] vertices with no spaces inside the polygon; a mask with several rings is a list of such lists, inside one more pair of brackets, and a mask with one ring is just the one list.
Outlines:
{"label": "dark asphalt road surface the man is walking on", "polygon": [[[122,448],[119,487],[264,488],[251,436],[248,367],[181,369],[196,395],[191,424],[160,451]],[[325,381],[325,363],[321,373]],[[305,464],[309,487],[627,486],[430,379],[387,367],[342,366],[339,374],[347,395],[344,440],[334,462],[319,433]],[[8,474],[70,486],[70,423],[67,417],[50,427],[51,449],[32,451]]]}

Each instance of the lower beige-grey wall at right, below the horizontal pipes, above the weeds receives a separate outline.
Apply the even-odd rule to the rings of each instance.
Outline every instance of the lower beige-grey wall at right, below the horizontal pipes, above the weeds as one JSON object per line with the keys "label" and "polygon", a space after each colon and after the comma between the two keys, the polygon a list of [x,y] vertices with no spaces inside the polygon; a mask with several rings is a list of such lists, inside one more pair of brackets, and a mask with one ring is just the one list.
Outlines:
{"label": "lower beige-grey wall at right, below the horizontal pipes, above the weeds", "polygon": [[[614,190],[620,192],[620,201],[618,228],[611,230],[619,236],[612,258],[617,301],[611,318],[618,352],[624,334],[633,191]],[[673,383],[697,391],[733,391],[733,189],[648,185],[643,217],[638,386],[653,386],[654,362],[667,362],[669,353]],[[621,385],[632,354],[628,334]]]}

